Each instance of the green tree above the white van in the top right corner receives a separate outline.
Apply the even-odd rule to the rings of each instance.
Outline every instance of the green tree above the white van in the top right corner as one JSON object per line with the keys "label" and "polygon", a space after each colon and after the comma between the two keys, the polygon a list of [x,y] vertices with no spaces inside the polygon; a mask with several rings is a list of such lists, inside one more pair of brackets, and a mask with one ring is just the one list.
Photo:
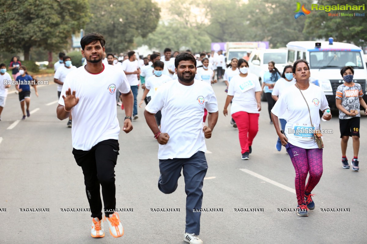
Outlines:
{"label": "green tree above the white van in the top right corner", "polygon": [[[362,5],[365,1],[330,1],[330,0],[319,0],[319,5]],[[330,11],[329,13],[355,13],[364,11]],[[310,13],[310,17],[306,20],[304,33],[314,38],[328,38],[333,37],[334,41],[339,42],[352,42],[357,46],[366,46],[367,44],[367,21],[366,17],[330,17],[328,12],[323,10],[315,10]]]}

